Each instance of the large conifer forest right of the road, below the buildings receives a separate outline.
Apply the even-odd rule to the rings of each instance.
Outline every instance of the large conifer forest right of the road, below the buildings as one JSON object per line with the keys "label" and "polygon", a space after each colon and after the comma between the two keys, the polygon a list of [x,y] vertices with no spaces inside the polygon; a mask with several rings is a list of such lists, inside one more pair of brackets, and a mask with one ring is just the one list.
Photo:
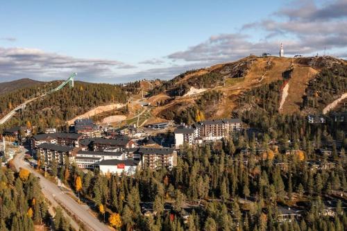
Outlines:
{"label": "large conifer forest right of the road, below the buildings", "polygon": [[[258,155],[256,143],[255,137],[242,135],[196,149],[185,147],[172,171],[144,169],[133,177],[82,171],[75,164],[54,174],[91,200],[101,221],[112,225],[111,217],[117,216],[114,227],[121,230],[346,229],[342,201],[333,196],[347,189],[346,160],[338,158],[330,169],[313,170],[300,155],[285,155],[271,147],[265,149],[266,155]],[[251,155],[242,155],[244,148]],[[327,198],[336,200],[335,216],[322,215]],[[142,215],[144,201],[153,202],[153,216]],[[164,211],[167,204],[172,205],[171,212]],[[188,205],[193,212],[185,221]],[[303,210],[301,218],[278,219],[280,207],[288,206]]]}

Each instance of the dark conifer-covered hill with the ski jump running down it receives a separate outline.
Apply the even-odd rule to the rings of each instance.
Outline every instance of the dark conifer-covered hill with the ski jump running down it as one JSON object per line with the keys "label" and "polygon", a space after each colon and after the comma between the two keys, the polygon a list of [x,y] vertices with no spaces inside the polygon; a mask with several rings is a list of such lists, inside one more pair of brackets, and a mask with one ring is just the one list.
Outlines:
{"label": "dark conifer-covered hill with the ski jump running down it", "polygon": [[[56,85],[57,82],[52,83]],[[42,85],[44,87],[44,85]],[[0,96],[1,116],[10,108],[22,103],[37,92],[35,87],[26,87]],[[83,114],[99,105],[125,103],[126,91],[120,85],[75,82],[74,88],[64,87],[29,103],[22,112],[15,114],[3,127],[25,125],[28,121],[38,130],[64,126],[65,121]]]}

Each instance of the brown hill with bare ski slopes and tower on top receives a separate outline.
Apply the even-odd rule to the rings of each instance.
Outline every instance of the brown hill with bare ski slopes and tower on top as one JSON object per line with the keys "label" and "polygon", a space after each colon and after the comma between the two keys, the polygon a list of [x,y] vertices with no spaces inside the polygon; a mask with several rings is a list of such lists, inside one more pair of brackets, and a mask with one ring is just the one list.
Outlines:
{"label": "brown hill with bare ski slopes and tower on top", "polygon": [[[198,111],[206,119],[219,119],[245,107],[239,104],[239,99],[247,92],[282,81],[278,87],[277,112],[305,115],[321,112],[325,105],[346,92],[346,69],[345,60],[329,56],[248,56],[180,74],[156,86],[149,101],[155,105],[153,114],[162,119],[192,123]],[[312,92],[318,94],[313,108],[307,103],[312,101]]]}

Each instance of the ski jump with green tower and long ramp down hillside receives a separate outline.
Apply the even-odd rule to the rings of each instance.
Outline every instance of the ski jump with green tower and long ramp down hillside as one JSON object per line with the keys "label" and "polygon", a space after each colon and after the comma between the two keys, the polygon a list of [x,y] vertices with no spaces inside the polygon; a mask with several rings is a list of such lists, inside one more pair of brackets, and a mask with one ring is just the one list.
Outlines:
{"label": "ski jump with green tower and long ramp down hillside", "polygon": [[69,78],[67,80],[65,80],[64,82],[62,82],[58,87],[53,88],[53,89],[49,90],[48,92],[44,92],[44,93],[40,94],[39,96],[33,96],[31,99],[28,99],[27,101],[25,101],[21,105],[18,105],[15,109],[8,112],[8,114],[6,114],[6,116],[4,116],[2,119],[0,119],[0,124],[6,123],[6,121],[11,119],[18,110],[24,109],[26,107],[26,105],[28,103],[31,103],[32,101],[35,101],[36,99],[40,99],[40,98],[46,96],[47,94],[57,92],[60,89],[62,89],[62,87],[65,87],[65,85],[69,85],[69,87],[71,87],[71,88],[74,87],[74,78],[76,77],[76,75],[77,75],[77,73],[71,74],[71,76],[69,76]]}

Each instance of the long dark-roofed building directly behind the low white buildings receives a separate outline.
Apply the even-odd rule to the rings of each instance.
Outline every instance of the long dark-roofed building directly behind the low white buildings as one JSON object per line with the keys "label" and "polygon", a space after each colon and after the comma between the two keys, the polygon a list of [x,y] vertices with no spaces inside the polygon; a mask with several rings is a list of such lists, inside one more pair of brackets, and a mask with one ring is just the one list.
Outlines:
{"label": "long dark-roofed building directly behind the low white buildings", "polygon": [[106,139],[102,137],[81,139],[79,142],[83,150],[103,151],[112,148],[117,151],[123,151],[125,148],[133,148],[135,143],[126,136],[117,136],[113,139]]}

